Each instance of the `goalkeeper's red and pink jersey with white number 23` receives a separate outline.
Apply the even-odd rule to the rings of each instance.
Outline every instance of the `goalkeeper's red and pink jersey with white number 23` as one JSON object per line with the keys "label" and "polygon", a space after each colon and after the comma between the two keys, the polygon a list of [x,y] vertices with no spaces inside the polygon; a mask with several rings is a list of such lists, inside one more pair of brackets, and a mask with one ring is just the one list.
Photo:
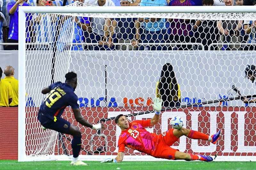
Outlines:
{"label": "goalkeeper's red and pink jersey with white number 23", "polygon": [[118,152],[124,152],[124,147],[130,147],[134,150],[152,155],[158,135],[149,133],[144,127],[150,126],[150,119],[143,121],[132,121],[129,128],[122,131],[118,140]]}

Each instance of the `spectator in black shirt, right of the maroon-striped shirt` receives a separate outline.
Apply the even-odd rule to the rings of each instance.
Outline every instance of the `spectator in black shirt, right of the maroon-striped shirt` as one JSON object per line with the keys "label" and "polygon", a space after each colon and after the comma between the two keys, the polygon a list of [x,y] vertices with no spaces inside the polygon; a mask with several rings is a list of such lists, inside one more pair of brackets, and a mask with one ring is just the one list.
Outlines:
{"label": "spectator in black shirt, right of the maroon-striped shirt", "polygon": [[[203,0],[203,6],[212,6],[213,0]],[[216,31],[217,23],[212,20],[197,20],[196,24],[193,26],[195,31],[194,35],[196,37],[196,42],[202,43],[204,45],[204,50],[208,50],[208,47],[212,43],[216,43]],[[212,47],[210,50],[214,50]]]}

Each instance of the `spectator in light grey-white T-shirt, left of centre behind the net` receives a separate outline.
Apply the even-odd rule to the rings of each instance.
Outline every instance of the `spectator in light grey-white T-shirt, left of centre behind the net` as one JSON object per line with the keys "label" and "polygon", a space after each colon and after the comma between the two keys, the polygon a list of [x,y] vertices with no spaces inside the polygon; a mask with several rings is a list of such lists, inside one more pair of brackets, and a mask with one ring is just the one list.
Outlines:
{"label": "spectator in light grey-white T-shirt, left of centre behind the net", "polygon": [[[111,0],[88,0],[84,3],[97,5],[97,6],[115,6],[115,4]],[[92,26],[92,33],[90,33],[90,40],[92,43],[99,43],[100,46],[92,47],[91,50],[110,50],[112,48],[108,48],[107,46],[107,38],[104,34],[104,27],[110,28],[112,18],[92,18],[91,26]],[[106,24],[106,26],[105,26]],[[113,36],[113,42],[115,42],[116,35]]]}

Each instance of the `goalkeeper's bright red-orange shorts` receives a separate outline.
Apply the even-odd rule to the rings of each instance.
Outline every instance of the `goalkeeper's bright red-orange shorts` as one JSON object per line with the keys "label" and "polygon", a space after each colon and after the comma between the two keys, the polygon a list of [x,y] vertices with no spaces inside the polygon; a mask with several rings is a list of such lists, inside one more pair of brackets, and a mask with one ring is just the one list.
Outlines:
{"label": "goalkeeper's bright red-orange shorts", "polygon": [[173,149],[170,146],[178,141],[179,138],[173,135],[173,129],[169,129],[166,132],[159,135],[159,140],[156,145],[155,152],[153,155],[156,158],[163,159],[175,159],[175,152],[179,151],[178,149]]}

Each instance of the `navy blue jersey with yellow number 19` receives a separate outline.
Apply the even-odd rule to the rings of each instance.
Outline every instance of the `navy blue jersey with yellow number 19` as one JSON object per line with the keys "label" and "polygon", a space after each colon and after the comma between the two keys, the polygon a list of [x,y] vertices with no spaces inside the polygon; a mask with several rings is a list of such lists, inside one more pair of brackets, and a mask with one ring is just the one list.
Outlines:
{"label": "navy blue jersey with yellow number 19", "polygon": [[79,108],[79,100],[74,93],[74,88],[66,83],[56,82],[49,86],[50,93],[44,99],[39,112],[42,115],[56,121],[67,106],[72,109]]}

